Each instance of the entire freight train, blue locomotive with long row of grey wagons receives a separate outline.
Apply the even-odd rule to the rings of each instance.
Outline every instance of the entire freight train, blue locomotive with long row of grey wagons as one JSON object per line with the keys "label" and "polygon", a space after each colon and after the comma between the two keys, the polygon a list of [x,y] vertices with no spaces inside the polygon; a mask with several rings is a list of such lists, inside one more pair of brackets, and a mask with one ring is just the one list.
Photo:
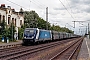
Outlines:
{"label": "entire freight train, blue locomotive with long row of grey wagons", "polygon": [[55,41],[67,38],[78,37],[75,34],[43,30],[38,28],[26,28],[23,34],[23,44],[31,44],[41,41]]}

